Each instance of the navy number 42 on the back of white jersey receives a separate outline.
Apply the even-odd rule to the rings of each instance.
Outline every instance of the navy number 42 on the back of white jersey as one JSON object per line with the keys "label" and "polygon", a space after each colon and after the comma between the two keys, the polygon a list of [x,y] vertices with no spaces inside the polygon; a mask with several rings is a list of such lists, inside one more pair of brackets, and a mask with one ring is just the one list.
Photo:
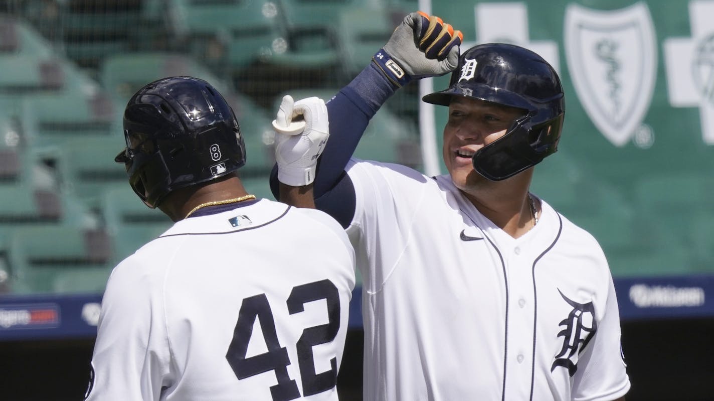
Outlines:
{"label": "navy number 42 on the back of white jersey", "polygon": [[[318,394],[335,387],[337,383],[337,359],[330,360],[331,370],[316,373],[313,357],[313,346],[331,342],[337,336],[340,328],[340,295],[337,287],[330,280],[298,285],[293,287],[288,297],[288,312],[291,315],[303,312],[307,302],[325,299],[327,302],[328,323],[308,327],[296,344],[298,366],[303,383],[303,395]],[[252,357],[246,357],[248,342],[253,334],[253,325],[259,320],[263,339],[268,352]],[[274,371],[278,384],[271,386],[273,401],[288,401],[300,398],[300,391],[295,380],[288,375],[287,366],[291,364],[286,347],[282,347],[276,333],[273,311],[268,304],[266,294],[258,294],[243,299],[238,312],[238,322],[233,330],[233,341],[228,347],[226,360],[231,365],[238,380]]]}

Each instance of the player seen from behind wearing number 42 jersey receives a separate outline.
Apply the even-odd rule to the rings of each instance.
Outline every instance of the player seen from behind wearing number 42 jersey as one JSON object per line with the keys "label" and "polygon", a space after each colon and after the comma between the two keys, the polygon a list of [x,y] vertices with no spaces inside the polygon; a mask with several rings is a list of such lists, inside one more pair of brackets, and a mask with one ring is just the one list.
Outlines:
{"label": "player seen from behind wearing number 42 jersey", "polygon": [[[310,145],[292,153],[318,155],[324,103],[293,107],[296,115],[318,109],[324,119],[311,124]],[[318,210],[246,192],[236,175],[246,160],[238,122],[206,81],[144,86],[126,107],[124,134],[116,161],[131,187],[176,223],[112,272],[87,398],[338,400],[355,284],[342,227]],[[300,160],[283,167],[303,168]],[[312,194],[293,201],[301,196]]]}

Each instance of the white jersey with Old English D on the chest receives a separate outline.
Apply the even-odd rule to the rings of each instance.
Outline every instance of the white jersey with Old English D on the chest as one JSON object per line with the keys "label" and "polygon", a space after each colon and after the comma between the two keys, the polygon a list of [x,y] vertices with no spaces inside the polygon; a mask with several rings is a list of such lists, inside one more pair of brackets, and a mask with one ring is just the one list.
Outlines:
{"label": "white jersey with Old English D on the chest", "polygon": [[614,400],[630,387],[600,246],[541,202],[514,239],[453,186],[348,164],[365,400]]}

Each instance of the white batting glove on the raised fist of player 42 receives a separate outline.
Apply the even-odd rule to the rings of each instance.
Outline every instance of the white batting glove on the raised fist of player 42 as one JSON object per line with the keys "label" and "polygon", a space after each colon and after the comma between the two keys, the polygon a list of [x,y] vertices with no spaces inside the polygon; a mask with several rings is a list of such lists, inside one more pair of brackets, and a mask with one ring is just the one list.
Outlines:
{"label": "white batting glove on the raised fist of player 42", "polygon": [[325,102],[318,97],[294,102],[292,96],[283,96],[273,129],[278,180],[292,187],[311,184],[317,159],[330,136]]}

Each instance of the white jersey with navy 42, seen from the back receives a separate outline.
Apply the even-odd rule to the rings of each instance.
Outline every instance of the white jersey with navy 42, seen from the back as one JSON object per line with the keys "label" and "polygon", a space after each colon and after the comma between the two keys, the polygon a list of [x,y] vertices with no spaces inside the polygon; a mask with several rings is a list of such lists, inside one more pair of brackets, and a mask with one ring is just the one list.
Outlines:
{"label": "white jersey with navy 42, seen from the back", "polygon": [[261,199],[177,222],[109,278],[89,400],[337,400],[354,285],[323,212]]}

